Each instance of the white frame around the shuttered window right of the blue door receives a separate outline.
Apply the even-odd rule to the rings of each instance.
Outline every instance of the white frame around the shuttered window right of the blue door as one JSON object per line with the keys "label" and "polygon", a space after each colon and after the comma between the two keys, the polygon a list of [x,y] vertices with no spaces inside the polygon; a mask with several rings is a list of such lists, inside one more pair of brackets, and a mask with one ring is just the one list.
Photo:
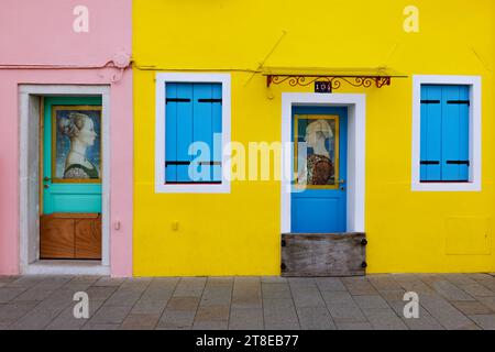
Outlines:
{"label": "white frame around the shuttered window right of the blue door", "polygon": [[[421,183],[421,86],[470,86],[470,178],[468,183]],[[480,76],[413,77],[413,191],[482,190],[482,78]]]}

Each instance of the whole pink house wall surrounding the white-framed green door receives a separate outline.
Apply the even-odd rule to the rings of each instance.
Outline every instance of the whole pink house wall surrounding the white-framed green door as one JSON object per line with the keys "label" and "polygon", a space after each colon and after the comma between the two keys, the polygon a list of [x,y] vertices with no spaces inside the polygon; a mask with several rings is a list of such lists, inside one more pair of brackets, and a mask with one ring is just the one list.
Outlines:
{"label": "whole pink house wall surrounding the white-framed green door", "polygon": [[[6,3],[7,2],[7,3]],[[89,9],[89,33],[75,33],[74,7]],[[131,53],[131,0],[2,0],[0,11],[0,275],[19,273],[19,85],[111,87],[111,272],[132,275],[132,72],[103,66]],[[122,55],[119,55],[122,56]],[[124,55],[125,56],[125,55]],[[43,65],[44,67],[13,67]],[[78,66],[78,69],[57,67]],[[120,78],[113,81],[116,77]],[[118,152],[116,152],[118,151]],[[120,221],[120,230],[114,222]]]}

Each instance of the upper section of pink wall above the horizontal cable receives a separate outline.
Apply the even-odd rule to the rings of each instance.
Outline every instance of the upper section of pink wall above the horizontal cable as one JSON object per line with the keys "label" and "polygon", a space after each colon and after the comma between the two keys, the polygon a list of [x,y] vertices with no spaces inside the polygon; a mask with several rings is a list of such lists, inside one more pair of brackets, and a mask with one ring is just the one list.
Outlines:
{"label": "upper section of pink wall above the horizontal cable", "polygon": [[[101,66],[131,53],[131,0],[1,0],[0,65]],[[74,8],[89,10],[89,32],[75,33]]]}

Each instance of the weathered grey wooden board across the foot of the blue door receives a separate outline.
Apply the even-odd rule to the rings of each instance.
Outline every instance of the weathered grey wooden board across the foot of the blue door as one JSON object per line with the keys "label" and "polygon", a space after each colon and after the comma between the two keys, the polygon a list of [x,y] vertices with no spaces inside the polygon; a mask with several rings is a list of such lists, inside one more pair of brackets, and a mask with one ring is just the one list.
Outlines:
{"label": "weathered grey wooden board across the foot of the blue door", "polygon": [[364,276],[364,233],[283,234],[282,276]]}

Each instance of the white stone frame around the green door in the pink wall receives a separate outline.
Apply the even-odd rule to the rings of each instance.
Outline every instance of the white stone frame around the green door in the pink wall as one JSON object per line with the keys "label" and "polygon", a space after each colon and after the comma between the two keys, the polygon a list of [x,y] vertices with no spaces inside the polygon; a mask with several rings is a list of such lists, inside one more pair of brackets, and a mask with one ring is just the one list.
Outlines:
{"label": "white stone frame around the green door in the pink wall", "polygon": [[[40,97],[102,98],[101,261],[40,261]],[[19,250],[24,275],[110,275],[110,86],[20,85]]]}

